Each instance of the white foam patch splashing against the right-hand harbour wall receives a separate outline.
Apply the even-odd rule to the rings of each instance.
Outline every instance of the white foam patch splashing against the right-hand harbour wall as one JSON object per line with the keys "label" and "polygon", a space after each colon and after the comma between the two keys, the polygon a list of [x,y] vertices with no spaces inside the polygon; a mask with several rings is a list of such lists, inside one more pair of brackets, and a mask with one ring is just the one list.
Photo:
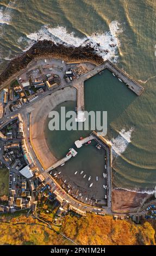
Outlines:
{"label": "white foam patch splashing against the right-hand harbour wall", "polygon": [[120,156],[126,150],[128,144],[130,143],[130,138],[133,131],[133,126],[128,131],[122,129],[119,132],[119,135],[111,140],[112,153],[114,157]]}

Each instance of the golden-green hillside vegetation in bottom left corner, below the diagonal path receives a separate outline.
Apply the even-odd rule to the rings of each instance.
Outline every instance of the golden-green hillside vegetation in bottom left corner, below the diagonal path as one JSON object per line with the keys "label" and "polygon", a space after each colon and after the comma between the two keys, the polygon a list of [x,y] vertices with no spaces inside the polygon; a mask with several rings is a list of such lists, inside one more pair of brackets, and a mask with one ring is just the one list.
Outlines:
{"label": "golden-green hillside vegetation in bottom left corner, below the diagonal path", "polygon": [[1,217],[0,245],[70,245],[63,236],[32,217]]}

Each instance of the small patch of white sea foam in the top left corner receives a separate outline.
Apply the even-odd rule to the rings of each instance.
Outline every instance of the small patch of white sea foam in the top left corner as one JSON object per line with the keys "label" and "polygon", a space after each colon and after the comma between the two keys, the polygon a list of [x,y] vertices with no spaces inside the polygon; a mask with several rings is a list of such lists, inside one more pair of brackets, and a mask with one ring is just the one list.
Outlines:
{"label": "small patch of white sea foam in the top left corner", "polygon": [[0,8],[0,25],[10,24],[11,15],[13,10],[11,9],[15,5],[15,2],[9,2],[7,7]]}

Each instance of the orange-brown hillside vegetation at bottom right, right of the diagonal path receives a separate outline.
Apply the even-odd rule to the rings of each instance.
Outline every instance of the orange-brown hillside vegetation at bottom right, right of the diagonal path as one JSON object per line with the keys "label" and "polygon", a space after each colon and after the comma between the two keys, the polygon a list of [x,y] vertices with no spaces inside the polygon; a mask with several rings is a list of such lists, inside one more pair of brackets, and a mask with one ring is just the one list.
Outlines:
{"label": "orange-brown hillside vegetation at bottom right, right of the diagonal path", "polygon": [[111,216],[66,216],[61,231],[80,245],[155,245],[155,229],[147,221],[136,225]]}

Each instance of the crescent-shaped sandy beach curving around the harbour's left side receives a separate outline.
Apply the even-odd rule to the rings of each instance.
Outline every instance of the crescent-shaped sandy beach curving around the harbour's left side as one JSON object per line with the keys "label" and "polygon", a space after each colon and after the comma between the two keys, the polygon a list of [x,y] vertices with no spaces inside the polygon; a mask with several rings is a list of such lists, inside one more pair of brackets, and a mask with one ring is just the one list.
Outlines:
{"label": "crescent-shaped sandy beach curving around the harbour's left side", "polygon": [[77,90],[74,87],[65,87],[33,105],[34,110],[30,114],[30,142],[44,169],[58,161],[49,150],[45,138],[45,123],[48,113],[60,103],[76,100]]}

